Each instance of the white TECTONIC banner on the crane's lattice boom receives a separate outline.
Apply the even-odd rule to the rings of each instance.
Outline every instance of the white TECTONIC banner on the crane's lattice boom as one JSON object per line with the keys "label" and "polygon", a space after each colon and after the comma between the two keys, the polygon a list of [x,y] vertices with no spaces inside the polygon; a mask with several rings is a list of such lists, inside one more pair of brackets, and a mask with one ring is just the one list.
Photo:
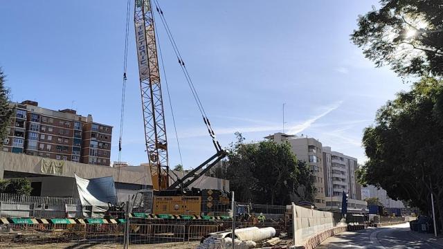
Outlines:
{"label": "white TECTONIC banner on the crane's lattice boom", "polygon": [[138,57],[138,73],[140,80],[146,80],[150,75],[147,55],[146,29],[143,21],[136,22],[136,43]]}

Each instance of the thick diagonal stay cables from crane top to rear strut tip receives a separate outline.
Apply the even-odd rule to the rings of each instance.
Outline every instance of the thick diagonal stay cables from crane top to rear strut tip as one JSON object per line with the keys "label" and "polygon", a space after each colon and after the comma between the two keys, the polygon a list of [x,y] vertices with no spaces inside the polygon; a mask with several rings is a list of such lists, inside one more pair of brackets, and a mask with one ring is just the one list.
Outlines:
{"label": "thick diagonal stay cables from crane top to rear strut tip", "polygon": [[181,57],[179,48],[177,47],[177,43],[175,42],[174,36],[172,35],[172,32],[168,26],[168,22],[166,21],[165,16],[163,15],[163,10],[161,10],[161,8],[159,6],[159,2],[157,0],[154,0],[154,4],[156,6],[157,12],[159,12],[161,22],[163,23],[163,26],[165,27],[165,30],[166,30],[166,33],[167,33],[168,38],[170,40],[170,43],[172,45],[172,48],[174,49],[174,53],[177,56],[177,59],[179,60],[181,70],[183,71],[186,81],[188,82],[188,85],[190,86],[192,95],[194,96],[195,102],[197,103],[197,107],[199,108],[199,111],[201,113],[201,116],[203,117],[204,123],[206,124],[206,128],[208,129],[208,133],[211,136],[211,138],[213,138],[213,144],[215,146],[215,149],[217,149],[217,151],[220,151],[221,146],[220,146],[219,142],[217,141],[217,138],[215,137],[215,132],[213,131],[213,129],[210,125],[208,116],[206,115],[206,111],[204,110],[203,104],[201,104],[197,90],[195,89],[195,86],[192,83],[190,74],[188,72],[188,69],[186,68],[183,57]]}

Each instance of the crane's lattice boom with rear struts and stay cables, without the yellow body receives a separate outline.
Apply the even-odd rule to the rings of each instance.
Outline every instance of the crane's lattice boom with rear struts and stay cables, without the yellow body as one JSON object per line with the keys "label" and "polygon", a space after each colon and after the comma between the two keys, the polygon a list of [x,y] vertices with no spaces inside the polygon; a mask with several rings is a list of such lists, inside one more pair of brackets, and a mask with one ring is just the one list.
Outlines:
{"label": "crane's lattice boom with rear struts and stay cables, without the yellow body", "polygon": [[[208,132],[213,139],[216,149],[215,155],[211,156],[204,163],[191,172],[183,176],[177,177],[177,181],[169,185],[170,167],[168,165],[168,140],[166,138],[165,113],[163,110],[163,99],[161,93],[161,79],[159,71],[159,59],[157,55],[156,31],[154,24],[154,12],[152,2],[150,0],[135,0],[134,5],[134,27],[136,35],[136,49],[138,57],[138,72],[140,77],[141,100],[143,108],[143,121],[145,125],[145,144],[148,163],[151,171],[152,186],[154,190],[168,190],[169,192],[188,188],[197,178],[215,165],[219,160],[226,156],[226,152],[221,149],[219,142],[215,138],[215,133],[210,126],[210,122],[204,113],[197,92],[190,82],[189,75],[184,68],[185,64],[179,53],[179,64],[183,73],[186,74],[188,84],[190,83],[191,91],[199,106],[203,109],[201,114],[204,123],[208,128]],[[156,10],[163,15],[163,12],[156,7]],[[163,18],[163,17],[161,17]],[[162,19],[163,21],[163,19]],[[163,23],[164,24],[164,23]],[[166,28],[166,27],[165,27]],[[170,38],[171,39],[171,38]],[[175,42],[172,43],[173,46]],[[175,51],[175,48],[174,48]],[[206,168],[204,168],[206,166]],[[182,193],[183,194],[183,193]]]}

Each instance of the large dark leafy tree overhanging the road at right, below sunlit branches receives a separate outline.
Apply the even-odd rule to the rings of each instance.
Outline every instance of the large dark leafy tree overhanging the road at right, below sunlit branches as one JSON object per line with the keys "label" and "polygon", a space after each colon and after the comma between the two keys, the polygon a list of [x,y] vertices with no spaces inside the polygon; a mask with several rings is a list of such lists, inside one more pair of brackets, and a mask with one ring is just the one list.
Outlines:
{"label": "large dark leafy tree overhanging the road at right, below sunlit branches", "polygon": [[365,129],[369,160],[359,181],[382,187],[392,199],[431,211],[443,228],[443,81],[424,77],[409,92],[398,93]]}

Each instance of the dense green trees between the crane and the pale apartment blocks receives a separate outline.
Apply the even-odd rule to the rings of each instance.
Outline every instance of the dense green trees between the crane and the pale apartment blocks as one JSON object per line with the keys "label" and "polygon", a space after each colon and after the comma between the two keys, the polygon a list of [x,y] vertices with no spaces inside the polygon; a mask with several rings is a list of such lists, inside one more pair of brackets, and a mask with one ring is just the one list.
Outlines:
{"label": "dense green trees between the crane and the pale apartment blocks", "polygon": [[291,196],[314,199],[314,176],[292,154],[289,144],[273,141],[244,144],[242,134],[236,135],[237,142],[227,150],[226,178],[237,200],[286,205],[293,201]]}

